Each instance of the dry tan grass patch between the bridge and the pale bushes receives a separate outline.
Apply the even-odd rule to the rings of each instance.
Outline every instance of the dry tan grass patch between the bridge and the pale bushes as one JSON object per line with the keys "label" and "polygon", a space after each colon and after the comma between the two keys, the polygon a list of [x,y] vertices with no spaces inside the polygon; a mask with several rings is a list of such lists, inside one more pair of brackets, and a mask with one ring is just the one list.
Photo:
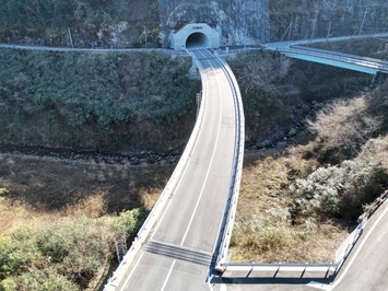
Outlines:
{"label": "dry tan grass patch between the bridge and the pale bushes", "polygon": [[[250,158],[252,159],[252,158]],[[232,261],[331,261],[348,235],[333,221],[306,220],[293,225],[289,187],[295,176],[314,171],[297,149],[268,152],[244,168],[236,222],[231,243]]]}

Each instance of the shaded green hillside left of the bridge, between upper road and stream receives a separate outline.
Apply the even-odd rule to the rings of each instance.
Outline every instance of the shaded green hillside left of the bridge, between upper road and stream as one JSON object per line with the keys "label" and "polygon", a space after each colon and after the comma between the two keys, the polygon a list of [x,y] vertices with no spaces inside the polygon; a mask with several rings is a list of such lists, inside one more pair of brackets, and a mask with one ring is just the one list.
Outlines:
{"label": "shaded green hillside left of the bridge, between upper road and stream", "polygon": [[110,151],[181,147],[200,91],[187,78],[190,65],[155,51],[0,50],[0,140]]}

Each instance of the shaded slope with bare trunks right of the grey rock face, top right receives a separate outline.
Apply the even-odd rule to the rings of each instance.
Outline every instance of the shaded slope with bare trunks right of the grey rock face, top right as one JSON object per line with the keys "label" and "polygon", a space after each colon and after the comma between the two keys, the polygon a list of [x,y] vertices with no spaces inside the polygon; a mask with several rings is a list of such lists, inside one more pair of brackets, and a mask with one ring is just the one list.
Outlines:
{"label": "shaded slope with bare trunks right of the grey rock face, top right", "polygon": [[386,0],[271,0],[270,38],[371,34],[388,31]]}

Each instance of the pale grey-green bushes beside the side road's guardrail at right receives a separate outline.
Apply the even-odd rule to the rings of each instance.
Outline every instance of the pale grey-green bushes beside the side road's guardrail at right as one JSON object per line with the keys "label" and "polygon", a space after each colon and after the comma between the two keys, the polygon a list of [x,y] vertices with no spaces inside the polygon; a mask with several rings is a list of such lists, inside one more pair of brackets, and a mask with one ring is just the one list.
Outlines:
{"label": "pale grey-green bushes beside the side road's guardrail at right", "polygon": [[368,141],[354,160],[340,166],[320,167],[292,187],[293,218],[333,216],[356,219],[363,205],[388,187],[387,140]]}

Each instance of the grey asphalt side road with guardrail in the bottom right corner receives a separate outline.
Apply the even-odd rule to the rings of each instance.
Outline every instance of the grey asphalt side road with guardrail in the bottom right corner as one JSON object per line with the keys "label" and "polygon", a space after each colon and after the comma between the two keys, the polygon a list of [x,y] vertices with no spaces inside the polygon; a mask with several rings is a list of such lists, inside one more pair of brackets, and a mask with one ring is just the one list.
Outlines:
{"label": "grey asphalt side road with guardrail in the bottom right corner", "polygon": [[[245,271],[212,282],[223,291],[386,291],[388,290],[388,201],[367,221],[339,272]],[[245,276],[242,276],[245,275]]]}

